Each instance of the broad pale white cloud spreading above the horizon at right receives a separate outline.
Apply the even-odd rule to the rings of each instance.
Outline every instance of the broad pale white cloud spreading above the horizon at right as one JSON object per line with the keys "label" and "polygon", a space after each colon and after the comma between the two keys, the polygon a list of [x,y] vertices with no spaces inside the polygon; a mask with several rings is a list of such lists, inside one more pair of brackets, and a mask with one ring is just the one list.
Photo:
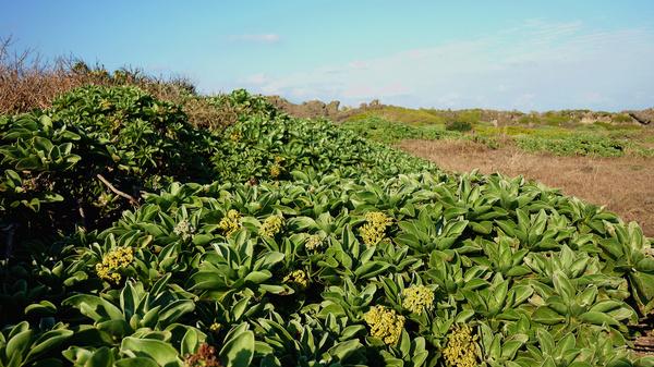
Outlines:
{"label": "broad pale white cloud spreading above the horizon at right", "polygon": [[[628,109],[654,103],[654,33],[593,30],[540,20],[483,37],[380,58],[253,77],[250,87],[291,99],[444,108]],[[620,106],[619,101],[631,106]]]}

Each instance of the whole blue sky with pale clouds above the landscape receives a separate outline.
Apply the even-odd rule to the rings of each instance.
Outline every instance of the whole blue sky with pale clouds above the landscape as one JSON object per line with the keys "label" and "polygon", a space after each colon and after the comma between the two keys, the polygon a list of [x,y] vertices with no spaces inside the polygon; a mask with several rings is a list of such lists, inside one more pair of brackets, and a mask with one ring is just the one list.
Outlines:
{"label": "whole blue sky with pale clouds above the landscape", "polygon": [[548,110],[654,106],[654,1],[0,0],[46,57],[292,101]]}

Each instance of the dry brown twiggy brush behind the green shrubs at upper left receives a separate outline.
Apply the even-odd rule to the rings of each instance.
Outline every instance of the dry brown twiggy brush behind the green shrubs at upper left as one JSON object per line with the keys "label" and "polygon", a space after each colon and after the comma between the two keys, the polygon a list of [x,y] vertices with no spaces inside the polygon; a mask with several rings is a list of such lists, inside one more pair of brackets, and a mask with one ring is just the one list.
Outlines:
{"label": "dry brown twiggy brush behind the green shrubs at upper left", "polygon": [[154,97],[180,105],[197,127],[220,130],[238,121],[240,111],[228,98],[199,97],[183,76],[153,76],[136,68],[109,73],[73,57],[45,61],[34,50],[12,51],[11,38],[0,39],[0,114],[46,109],[60,94],[84,85],[132,85]]}

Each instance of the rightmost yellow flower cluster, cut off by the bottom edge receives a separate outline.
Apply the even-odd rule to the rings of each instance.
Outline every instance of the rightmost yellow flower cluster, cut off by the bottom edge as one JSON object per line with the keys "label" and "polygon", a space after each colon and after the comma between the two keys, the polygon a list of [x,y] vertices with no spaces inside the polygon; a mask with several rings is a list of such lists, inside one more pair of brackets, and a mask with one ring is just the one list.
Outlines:
{"label": "rightmost yellow flower cluster, cut off by the bottom edge", "polygon": [[474,367],[477,365],[480,346],[477,335],[472,335],[472,328],[468,325],[455,327],[447,339],[443,355],[448,366]]}

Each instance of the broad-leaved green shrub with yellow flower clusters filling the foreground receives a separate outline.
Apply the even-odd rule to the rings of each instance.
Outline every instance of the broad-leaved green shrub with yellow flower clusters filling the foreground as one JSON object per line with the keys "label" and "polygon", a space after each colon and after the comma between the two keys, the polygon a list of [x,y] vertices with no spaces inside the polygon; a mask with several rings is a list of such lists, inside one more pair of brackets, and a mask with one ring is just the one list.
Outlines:
{"label": "broad-leaved green shrub with yellow flower clusters filling the foreground", "polygon": [[[3,302],[62,322],[59,345],[23,360],[61,359],[64,351],[77,364],[140,355],[181,366],[206,342],[223,364],[427,366],[451,352],[465,323],[476,335],[475,363],[540,364],[549,339],[569,363],[627,363],[627,325],[652,309],[644,284],[654,281],[654,259],[640,229],[578,199],[500,176],[292,175],[294,183],[256,186],[173,184],[114,225],[49,253],[41,266],[52,271],[29,274],[36,269],[22,265],[4,273],[66,290]],[[235,231],[217,225],[222,219]],[[276,229],[264,231],[271,219]],[[377,231],[374,242],[366,228]],[[107,261],[117,252],[120,262]],[[72,330],[87,337],[72,339]]]}

